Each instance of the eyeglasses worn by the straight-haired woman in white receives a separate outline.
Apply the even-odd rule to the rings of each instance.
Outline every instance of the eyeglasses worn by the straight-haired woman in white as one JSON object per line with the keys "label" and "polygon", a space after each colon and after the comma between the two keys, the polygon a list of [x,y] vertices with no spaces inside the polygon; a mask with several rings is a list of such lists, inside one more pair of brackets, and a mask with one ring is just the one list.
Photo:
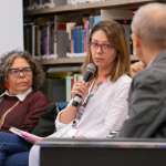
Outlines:
{"label": "eyeglasses worn by the straight-haired woman in white", "polygon": [[89,42],[91,50],[96,51],[100,46],[102,52],[110,52],[114,46],[111,44],[97,44],[96,42]]}

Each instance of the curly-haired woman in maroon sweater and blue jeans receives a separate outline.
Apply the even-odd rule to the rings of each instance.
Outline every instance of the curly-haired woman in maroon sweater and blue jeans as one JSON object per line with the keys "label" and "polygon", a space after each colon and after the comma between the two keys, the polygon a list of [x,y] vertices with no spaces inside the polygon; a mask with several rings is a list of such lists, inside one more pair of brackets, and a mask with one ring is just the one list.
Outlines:
{"label": "curly-haired woman in maroon sweater and blue jeans", "polygon": [[28,155],[23,154],[32,144],[9,128],[31,133],[37,126],[50,105],[49,98],[38,91],[44,76],[42,68],[25,51],[11,51],[0,60],[0,166],[28,165]]}

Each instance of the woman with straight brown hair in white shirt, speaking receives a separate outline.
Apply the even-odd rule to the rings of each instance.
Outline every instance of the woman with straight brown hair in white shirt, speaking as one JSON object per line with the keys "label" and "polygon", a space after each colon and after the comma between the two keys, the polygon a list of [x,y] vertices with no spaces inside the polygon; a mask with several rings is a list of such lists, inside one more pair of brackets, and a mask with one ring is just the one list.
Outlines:
{"label": "woman with straight brown hair in white shirt, speaking", "polygon": [[[56,117],[58,132],[50,137],[102,138],[120,129],[126,118],[131,59],[125,31],[120,23],[108,20],[94,25],[82,66],[83,75],[89,63],[96,65],[90,83],[86,85],[81,80],[71,92],[73,98],[76,94],[82,96],[83,112],[71,101]],[[37,145],[31,148],[30,166],[39,165],[39,152]]]}

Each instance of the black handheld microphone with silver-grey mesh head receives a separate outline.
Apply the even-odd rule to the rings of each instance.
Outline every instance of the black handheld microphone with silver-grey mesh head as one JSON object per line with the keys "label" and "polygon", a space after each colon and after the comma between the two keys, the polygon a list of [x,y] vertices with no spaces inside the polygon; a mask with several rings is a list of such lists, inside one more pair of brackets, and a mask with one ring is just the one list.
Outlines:
{"label": "black handheld microphone with silver-grey mesh head", "polygon": [[[95,70],[96,70],[96,66],[93,63],[87,64],[86,72],[85,72],[85,74],[83,76],[84,82],[89,82],[90,81],[90,79],[91,79],[92,74],[95,72]],[[76,94],[74,100],[73,100],[72,105],[77,107],[80,105],[81,101],[82,101],[82,96]]]}

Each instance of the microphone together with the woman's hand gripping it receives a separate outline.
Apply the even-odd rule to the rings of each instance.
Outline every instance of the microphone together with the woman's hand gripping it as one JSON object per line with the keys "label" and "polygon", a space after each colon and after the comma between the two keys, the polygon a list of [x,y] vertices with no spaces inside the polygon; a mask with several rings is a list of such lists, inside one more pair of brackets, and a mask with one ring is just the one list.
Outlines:
{"label": "microphone together with the woman's hand gripping it", "polygon": [[[96,70],[96,66],[93,63],[87,64],[86,72],[83,76],[83,80],[76,83],[79,84],[79,87],[74,85],[72,90],[72,97],[74,96],[74,100],[72,103],[73,106],[77,107],[82,101],[82,97],[87,93],[87,87],[85,83],[87,83],[91,80],[91,76],[95,72],[95,70]],[[77,92],[77,94],[75,94],[74,92]]]}

